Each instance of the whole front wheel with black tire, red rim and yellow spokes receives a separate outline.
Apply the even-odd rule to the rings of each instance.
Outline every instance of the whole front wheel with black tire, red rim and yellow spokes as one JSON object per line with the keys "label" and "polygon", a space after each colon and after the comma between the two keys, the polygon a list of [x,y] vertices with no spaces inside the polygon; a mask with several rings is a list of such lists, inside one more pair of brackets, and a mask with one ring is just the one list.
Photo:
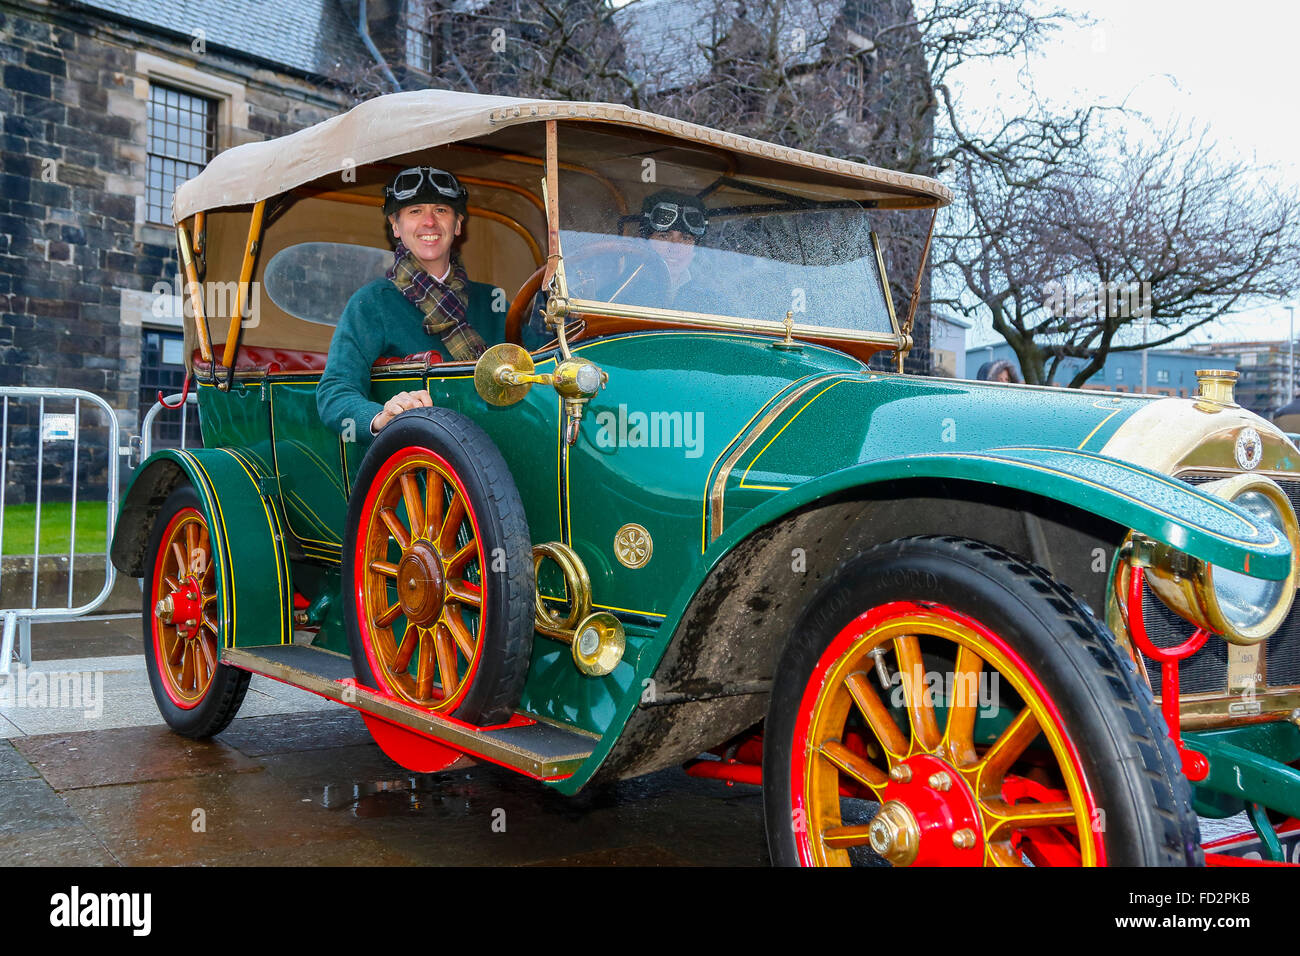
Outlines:
{"label": "whole front wheel with black tire, red rim and yellow spokes", "polygon": [[777,862],[1199,861],[1149,692],[1044,572],[909,538],[845,562],[809,611],[764,732]]}

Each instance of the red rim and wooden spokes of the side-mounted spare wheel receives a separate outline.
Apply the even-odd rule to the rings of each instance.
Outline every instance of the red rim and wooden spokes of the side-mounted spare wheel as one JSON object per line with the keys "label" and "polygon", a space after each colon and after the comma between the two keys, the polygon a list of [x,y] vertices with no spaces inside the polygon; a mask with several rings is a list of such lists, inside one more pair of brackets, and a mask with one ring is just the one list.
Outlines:
{"label": "red rim and wooden spokes of the side-mounted spare wheel", "polygon": [[358,627],[380,689],[454,710],[482,661],[488,593],[478,516],[446,459],[412,446],[384,463],[352,557]]}

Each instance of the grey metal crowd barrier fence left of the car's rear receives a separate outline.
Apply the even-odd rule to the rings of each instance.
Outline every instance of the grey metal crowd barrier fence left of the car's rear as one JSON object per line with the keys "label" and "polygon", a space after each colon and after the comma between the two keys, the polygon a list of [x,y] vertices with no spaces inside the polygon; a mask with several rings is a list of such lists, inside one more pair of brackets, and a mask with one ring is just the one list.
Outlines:
{"label": "grey metal crowd barrier fence left of the car's rear", "polygon": [[[174,394],[164,399],[166,405],[162,402],[155,403],[140,421],[140,434],[131,436],[129,445],[124,447],[120,441],[121,433],[117,412],[108,402],[94,393],[79,389],[0,386],[0,602],[5,601],[3,588],[5,578],[4,536],[6,524],[9,524],[6,522],[5,498],[13,494],[14,488],[21,486],[23,490],[26,489],[27,481],[14,479],[13,471],[16,467],[26,471],[31,471],[32,467],[35,470],[34,480],[31,481],[31,501],[22,502],[32,507],[32,553],[30,555],[10,555],[17,562],[23,563],[30,558],[30,600],[22,602],[26,604],[25,607],[0,606],[0,622],[3,622],[3,631],[0,631],[0,674],[10,671],[16,645],[18,659],[25,665],[31,663],[32,620],[73,620],[100,607],[112,593],[117,572],[108,551],[112,544],[113,523],[117,518],[121,457],[127,455],[131,467],[148,458],[153,449],[155,429],[159,423],[165,420],[165,418],[177,415],[177,412],[179,412],[181,421],[179,446],[186,447],[190,406],[196,405],[198,399],[192,393],[186,395],[185,402],[179,402],[179,399],[181,395]],[[69,405],[70,412],[64,411]],[[101,410],[105,421],[101,427],[101,434],[96,434],[91,442],[83,444],[83,432],[91,428],[87,427],[84,420],[83,406],[86,405]],[[32,406],[35,411],[34,418],[22,414],[26,410],[32,410]],[[18,440],[16,440],[16,433]],[[57,454],[47,451],[47,446],[56,449]],[[78,501],[82,501],[83,505],[86,503],[86,499],[81,494],[79,479],[82,477],[87,457],[95,459],[96,471],[100,467],[104,470],[104,494],[103,497],[99,494],[94,496],[94,501],[104,501],[107,505],[103,553],[104,579],[103,587],[94,598],[74,607],[73,594],[77,576],[77,558],[87,558],[87,553],[82,553],[81,555],[77,553],[77,505]],[[49,463],[51,458],[60,459],[57,462],[57,477],[66,480],[65,485],[69,493],[68,549],[66,551],[60,550],[57,554],[42,555],[42,510],[47,506],[47,490],[52,486],[47,475],[47,463]],[[13,509],[14,502],[10,502],[10,512]],[[14,533],[12,527],[9,533]],[[96,555],[98,551],[88,553],[91,558]],[[44,589],[46,593],[42,600],[42,557],[58,557],[68,563],[66,598],[61,602],[61,606],[58,602],[51,600],[49,588]],[[16,568],[10,568],[9,574],[16,574]],[[10,598],[14,591],[10,584]],[[23,588],[23,591],[26,589]],[[9,604],[18,602],[10,600]]]}

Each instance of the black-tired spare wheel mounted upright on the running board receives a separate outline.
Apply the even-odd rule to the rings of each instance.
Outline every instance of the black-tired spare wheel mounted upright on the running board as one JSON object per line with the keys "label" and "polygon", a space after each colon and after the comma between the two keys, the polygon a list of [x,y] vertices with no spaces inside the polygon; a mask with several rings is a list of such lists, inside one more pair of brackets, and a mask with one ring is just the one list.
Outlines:
{"label": "black-tired spare wheel mounted upright on the running board", "polygon": [[[410,675],[411,667],[416,667],[419,672],[417,662],[411,663],[407,670],[400,672],[384,669],[385,679],[378,679],[380,675],[374,671],[381,669],[372,666],[372,658],[367,649],[368,641],[372,644],[370,652],[376,654],[376,661],[380,659],[380,650],[376,648],[386,646],[389,640],[400,654],[398,630],[403,628],[402,633],[404,635],[404,626],[410,624],[410,620],[403,610],[390,626],[380,627],[373,613],[367,611],[363,618],[356,598],[358,588],[377,589],[380,587],[373,583],[374,579],[358,578],[359,564],[361,564],[358,549],[359,546],[372,546],[360,536],[363,529],[370,525],[372,516],[378,520],[378,511],[382,510],[382,493],[376,483],[391,485],[394,475],[400,481],[400,472],[395,470],[410,468],[412,475],[422,475],[419,477],[424,483],[421,488],[428,488],[428,481],[436,472],[428,468],[421,472],[416,464],[402,464],[411,455],[415,457],[412,460],[425,460],[428,459],[426,453],[442,459],[454,473],[455,480],[463,486],[464,497],[468,498],[468,510],[474,516],[474,524],[478,529],[476,540],[481,546],[480,558],[471,562],[469,570],[463,572],[467,576],[460,584],[468,581],[473,568],[477,567],[478,580],[476,585],[480,588],[482,617],[476,618],[472,607],[456,605],[452,598],[437,605],[438,615],[434,623],[428,626],[430,633],[436,633],[439,624],[448,626],[442,609],[451,605],[456,605],[455,614],[462,622],[462,628],[467,628],[465,615],[476,620],[473,628],[467,628],[473,630],[477,635],[473,659],[465,656],[463,646],[452,652],[458,671],[464,670],[464,675],[459,678],[462,683],[458,684],[450,702],[445,696],[430,698],[420,691],[419,680]],[[447,481],[441,475],[438,475],[438,480],[443,481],[443,488],[451,494],[454,503],[456,496],[454,483]],[[451,507],[451,503],[443,505],[443,507]],[[368,510],[373,511],[374,515],[368,514]],[[446,512],[443,512],[443,518],[446,518]],[[406,520],[410,524],[408,514]],[[410,527],[406,531],[410,532]],[[416,537],[411,536],[411,540],[415,541]],[[432,535],[429,540],[432,545],[437,545]],[[403,557],[406,550],[400,548],[400,542],[395,537],[391,541],[385,537],[382,545],[374,546],[386,548],[390,555],[396,554],[399,558],[407,559]],[[489,726],[510,719],[523,695],[533,649],[532,550],[519,489],[491,438],[473,421],[448,408],[413,408],[398,415],[380,432],[365,453],[347,509],[347,532],[343,541],[346,592],[343,619],[358,680],[367,687],[404,698],[416,706],[451,714],[469,723]],[[424,551],[425,559],[430,561],[428,553],[429,549]],[[486,555],[493,555],[491,561],[488,561]],[[438,567],[445,570],[447,566],[439,563]],[[447,580],[450,581],[450,576]],[[393,600],[398,600],[400,605],[400,592],[396,591],[398,581],[394,580],[391,591],[387,589],[389,585],[384,587],[384,593],[393,594]],[[484,594],[486,596],[484,597]],[[426,609],[419,611],[424,620],[428,620],[429,613]],[[364,633],[363,619],[367,628]],[[421,635],[420,646],[408,659],[413,661],[416,656],[424,653],[422,640]],[[432,637],[430,643],[436,646]],[[465,661],[463,669],[462,659]],[[441,665],[438,674],[442,674]],[[442,683],[441,679],[437,682],[437,689],[433,693],[442,695]]]}

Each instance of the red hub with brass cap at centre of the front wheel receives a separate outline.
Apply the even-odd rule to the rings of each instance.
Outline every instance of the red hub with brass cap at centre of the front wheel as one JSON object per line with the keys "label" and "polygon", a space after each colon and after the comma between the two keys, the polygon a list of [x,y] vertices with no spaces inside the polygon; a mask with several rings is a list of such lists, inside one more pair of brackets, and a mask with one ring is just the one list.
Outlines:
{"label": "red hub with brass cap at centre of the front wheel", "polygon": [[916,754],[889,770],[871,821],[871,848],[896,866],[979,866],[984,835],[975,795],[944,761]]}

